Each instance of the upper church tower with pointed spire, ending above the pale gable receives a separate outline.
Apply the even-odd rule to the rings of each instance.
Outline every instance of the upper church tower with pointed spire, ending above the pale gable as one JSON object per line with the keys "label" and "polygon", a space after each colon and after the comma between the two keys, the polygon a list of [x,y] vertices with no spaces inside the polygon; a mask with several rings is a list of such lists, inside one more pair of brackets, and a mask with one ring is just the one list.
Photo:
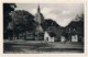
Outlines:
{"label": "upper church tower with pointed spire, ending above the pale gable", "polygon": [[37,12],[35,14],[35,22],[37,22],[38,24],[41,24],[43,21],[44,21],[44,16],[43,14],[41,13],[41,9],[40,9],[40,4],[37,7]]}

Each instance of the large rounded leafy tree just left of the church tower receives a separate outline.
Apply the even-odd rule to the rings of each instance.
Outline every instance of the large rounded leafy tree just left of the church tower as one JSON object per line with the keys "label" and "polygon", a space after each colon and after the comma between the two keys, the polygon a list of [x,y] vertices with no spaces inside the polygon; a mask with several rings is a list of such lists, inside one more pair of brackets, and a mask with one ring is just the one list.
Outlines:
{"label": "large rounded leafy tree just left of the church tower", "polygon": [[15,24],[14,32],[23,33],[25,32],[24,38],[26,38],[26,31],[31,32],[35,29],[34,15],[24,10],[16,10],[11,12],[12,21]]}

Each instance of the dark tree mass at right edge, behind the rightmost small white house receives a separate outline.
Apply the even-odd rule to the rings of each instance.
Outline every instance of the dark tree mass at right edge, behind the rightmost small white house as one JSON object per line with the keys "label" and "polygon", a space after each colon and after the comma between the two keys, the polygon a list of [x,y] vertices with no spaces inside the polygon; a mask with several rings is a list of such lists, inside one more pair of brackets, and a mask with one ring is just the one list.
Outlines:
{"label": "dark tree mass at right edge, behind the rightmost small white house", "polygon": [[80,16],[77,15],[75,21],[72,21],[69,25],[66,26],[66,30],[69,29],[70,29],[70,34],[73,34],[74,29],[76,30],[78,35],[78,41],[81,42],[81,39],[84,38],[84,14],[81,14]]}

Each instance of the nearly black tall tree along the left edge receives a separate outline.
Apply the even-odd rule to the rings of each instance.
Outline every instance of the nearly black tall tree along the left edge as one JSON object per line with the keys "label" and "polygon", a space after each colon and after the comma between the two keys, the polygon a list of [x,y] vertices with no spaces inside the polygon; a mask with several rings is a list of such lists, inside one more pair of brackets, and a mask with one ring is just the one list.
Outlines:
{"label": "nearly black tall tree along the left edge", "polygon": [[15,3],[3,3],[3,38],[8,38],[8,24],[11,22],[9,13],[14,11]]}

